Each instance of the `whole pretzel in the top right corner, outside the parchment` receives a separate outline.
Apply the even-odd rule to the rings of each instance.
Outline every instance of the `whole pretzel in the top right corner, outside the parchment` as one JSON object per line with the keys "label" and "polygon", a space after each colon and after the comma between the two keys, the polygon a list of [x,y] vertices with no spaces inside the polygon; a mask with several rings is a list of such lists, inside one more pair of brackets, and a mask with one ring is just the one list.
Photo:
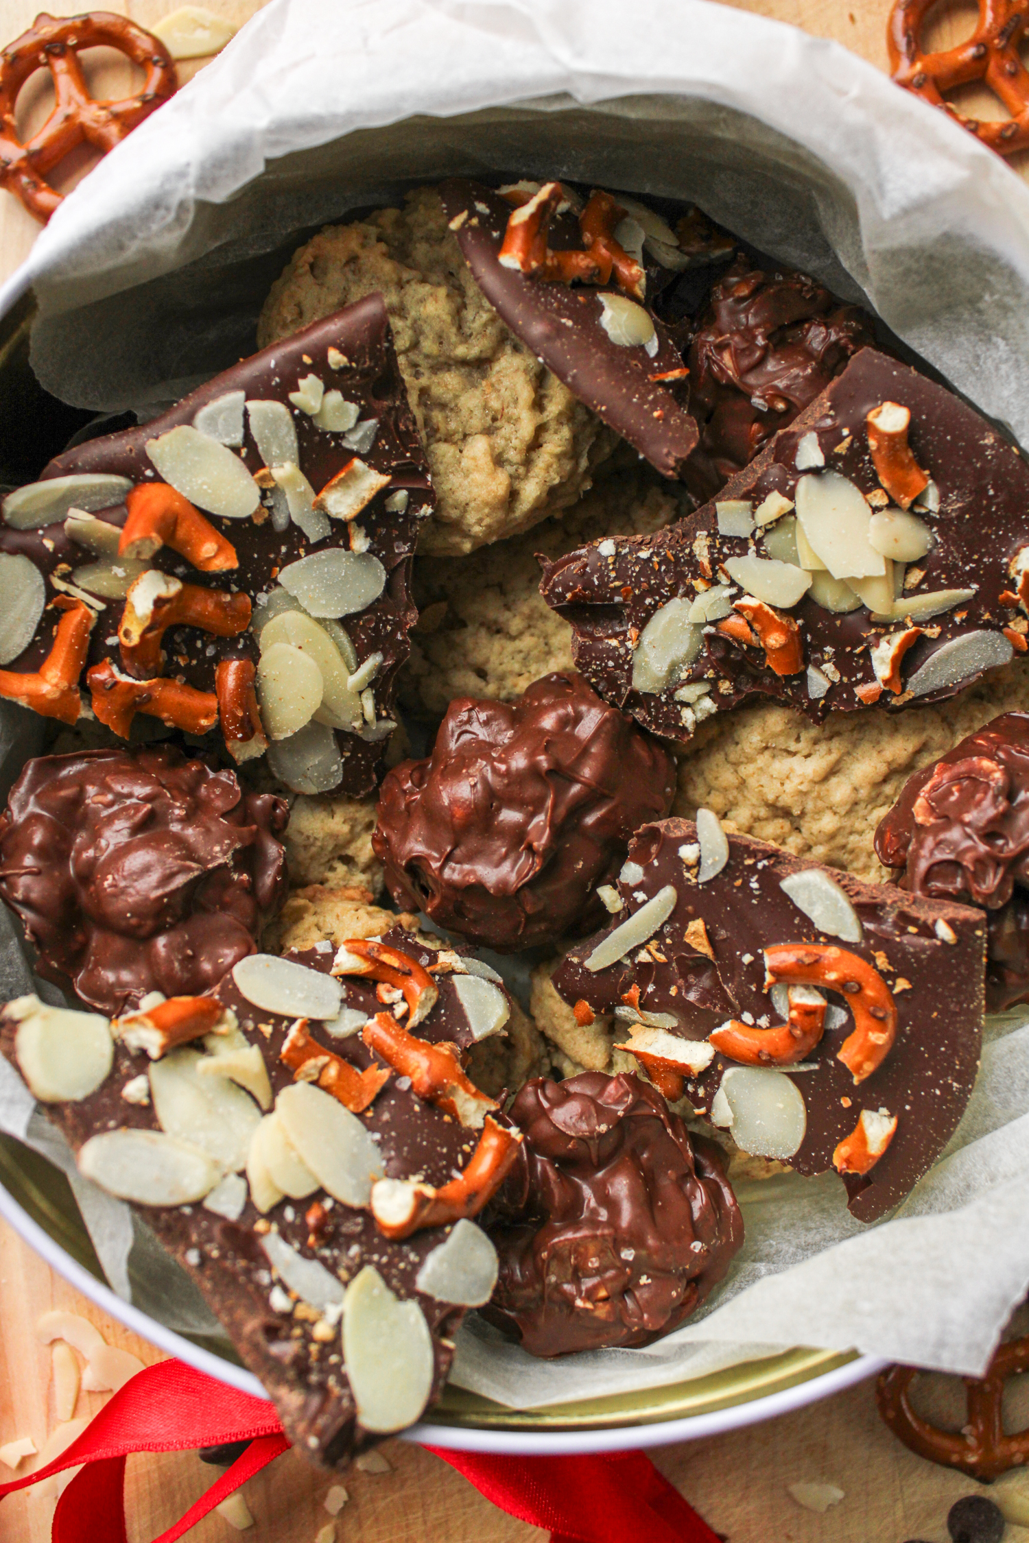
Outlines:
{"label": "whole pretzel in the top right corner, outside the parchment", "polygon": [[[898,0],[890,14],[887,45],[890,71],[898,85],[933,106],[946,108],[969,133],[1001,156],[1029,147],[1029,71],[1018,54],[1018,43],[1029,29],[1024,0],[980,0],[980,22],[970,37],[955,48],[923,54],[918,42],[923,22],[936,0]],[[1009,119],[981,122],[958,113],[943,93],[984,80],[1000,97]]]}

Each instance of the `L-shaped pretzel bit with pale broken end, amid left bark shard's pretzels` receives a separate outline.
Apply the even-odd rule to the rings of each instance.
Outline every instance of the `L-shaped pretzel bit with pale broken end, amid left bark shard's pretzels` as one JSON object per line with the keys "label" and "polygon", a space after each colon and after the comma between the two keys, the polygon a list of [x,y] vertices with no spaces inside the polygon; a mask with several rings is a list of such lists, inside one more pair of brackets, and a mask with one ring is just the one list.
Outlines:
{"label": "L-shaped pretzel bit with pale broken end, amid left bark shard's pretzels", "polygon": [[148,680],[164,663],[162,640],[170,626],[197,626],[214,637],[238,637],[250,625],[250,596],[202,589],[150,568],[134,579],[117,628],[122,665]]}

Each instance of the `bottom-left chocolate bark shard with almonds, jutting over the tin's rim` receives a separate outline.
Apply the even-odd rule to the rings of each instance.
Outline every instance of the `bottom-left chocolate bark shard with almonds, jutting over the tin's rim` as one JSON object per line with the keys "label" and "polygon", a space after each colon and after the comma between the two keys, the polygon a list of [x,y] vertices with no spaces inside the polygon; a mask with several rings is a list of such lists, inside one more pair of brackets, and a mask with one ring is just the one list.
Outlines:
{"label": "bottom-left chocolate bark shard with almonds, jutting over the tin's rim", "polygon": [[495,1282],[472,1217],[521,1136],[464,1077],[455,1046],[483,1023],[458,983],[508,998],[455,960],[393,929],[251,955],[211,995],[113,1021],[0,1014],[80,1171],[139,1207],[327,1467],[420,1418]]}

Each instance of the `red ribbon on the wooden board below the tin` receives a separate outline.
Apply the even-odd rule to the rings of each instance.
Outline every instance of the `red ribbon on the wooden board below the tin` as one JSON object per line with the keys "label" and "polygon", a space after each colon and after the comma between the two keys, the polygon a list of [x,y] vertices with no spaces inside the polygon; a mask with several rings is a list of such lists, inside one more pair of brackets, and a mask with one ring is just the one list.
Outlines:
{"label": "red ribbon on the wooden board below the tin", "polygon": [[[174,1543],[290,1444],[272,1404],[180,1361],[160,1361],[114,1393],[52,1463],[0,1484],[0,1500],[85,1464],[57,1501],[52,1543],[128,1543],[123,1487],[130,1452],[185,1452],[245,1440],[247,1450],[153,1543]],[[523,1458],[426,1450],[501,1511],[549,1529],[551,1543],[717,1543],[717,1534],[642,1452]]]}

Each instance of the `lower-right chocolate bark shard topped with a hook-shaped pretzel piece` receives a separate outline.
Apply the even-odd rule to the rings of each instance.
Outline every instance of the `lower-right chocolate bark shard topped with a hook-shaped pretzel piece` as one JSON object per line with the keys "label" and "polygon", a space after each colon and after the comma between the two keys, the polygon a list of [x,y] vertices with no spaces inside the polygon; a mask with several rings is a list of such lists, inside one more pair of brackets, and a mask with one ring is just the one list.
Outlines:
{"label": "lower-right chocolate bark shard topped with a hook-shaped pretzel piece", "polygon": [[980,1063],[986,918],[697,824],[645,826],[622,910],[554,974],[611,1012],[668,1099],[753,1156],[836,1168],[852,1213],[898,1205]]}

